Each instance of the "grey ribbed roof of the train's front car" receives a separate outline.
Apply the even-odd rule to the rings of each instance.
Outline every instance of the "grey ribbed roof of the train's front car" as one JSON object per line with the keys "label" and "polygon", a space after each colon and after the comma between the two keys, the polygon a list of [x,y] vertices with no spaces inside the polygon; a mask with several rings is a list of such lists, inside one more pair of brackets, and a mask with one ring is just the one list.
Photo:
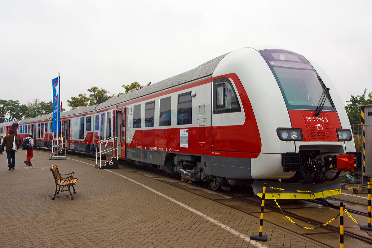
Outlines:
{"label": "grey ribbed roof of the train's front car", "polygon": [[[228,53],[227,53],[228,54]],[[194,81],[199,78],[208,77],[213,74],[214,69],[217,67],[218,63],[227,54],[221,55],[217,58],[211,59],[198,67],[186,71],[184,73],[178,74],[176,76],[167,78],[158,83],[151,84],[149,86],[143,87],[140,90],[135,90],[121,96],[114,96],[108,99],[104,103],[100,103],[96,110],[105,109],[106,107],[113,106],[122,102],[129,101],[138,97],[142,97],[148,94],[153,94],[155,92],[171,88],[180,84],[184,84],[190,81]]]}

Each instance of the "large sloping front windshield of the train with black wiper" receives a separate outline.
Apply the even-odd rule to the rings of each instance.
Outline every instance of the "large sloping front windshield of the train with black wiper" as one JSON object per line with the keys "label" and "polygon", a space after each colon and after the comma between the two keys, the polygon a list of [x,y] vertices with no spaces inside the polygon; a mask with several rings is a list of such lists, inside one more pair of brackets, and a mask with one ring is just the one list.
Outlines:
{"label": "large sloping front windshield of the train with black wiper", "polygon": [[[274,74],[288,109],[317,109],[325,88],[307,59],[279,49],[263,50],[260,54]],[[335,110],[328,97],[323,110]]]}

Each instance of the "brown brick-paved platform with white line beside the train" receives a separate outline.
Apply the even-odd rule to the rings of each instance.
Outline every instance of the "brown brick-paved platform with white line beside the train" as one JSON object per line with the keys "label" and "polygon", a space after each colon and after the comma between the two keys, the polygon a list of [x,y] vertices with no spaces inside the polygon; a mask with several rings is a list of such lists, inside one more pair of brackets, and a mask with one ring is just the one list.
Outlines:
{"label": "brown brick-paved platform with white line beside the train", "polygon": [[[249,239],[258,234],[259,219],[202,197],[212,193],[194,194],[164,183],[172,179],[122,165],[97,170],[79,156],[52,161],[48,155],[36,149],[28,167],[26,152],[19,150],[12,171],[0,155],[1,248],[328,247],[267,222],[268,242],[262,245]],[[74,200],[49,199],[55,190],[52,165],[62,174],[75,172]]]}

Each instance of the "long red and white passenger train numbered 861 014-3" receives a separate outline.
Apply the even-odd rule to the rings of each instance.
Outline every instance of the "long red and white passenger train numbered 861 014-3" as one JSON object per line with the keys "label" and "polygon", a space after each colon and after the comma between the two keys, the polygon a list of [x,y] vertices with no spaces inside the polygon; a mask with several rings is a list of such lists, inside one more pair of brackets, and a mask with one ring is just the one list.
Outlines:
{"label": "long red and white passenger train numbered 861 014-3", "polygon": [[[50,147],[50,118],[21,120],[19,139],[31,131],[36,146]],[[338,189],[337,177],[355,163],[350,123],[331,80],[302,55],[269,46],[237,49],[63,112],[61,123],[67,150],[94,153],[98,141],[117,137],[118,144],[108,144],[118,147],[113,155],[209,181],[215,190],[253,181]],[[285,193],[282,198],[296,197]]]}

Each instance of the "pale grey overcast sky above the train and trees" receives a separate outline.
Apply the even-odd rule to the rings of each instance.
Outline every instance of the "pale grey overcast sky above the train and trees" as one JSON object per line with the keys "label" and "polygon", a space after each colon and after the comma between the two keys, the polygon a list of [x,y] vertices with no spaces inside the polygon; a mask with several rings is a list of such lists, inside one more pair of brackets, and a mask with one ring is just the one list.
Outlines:
{"label": "pale grey overcast sky above the train and trees", "polygon": [[372,1],[0,0],[0,98],[62,107],[92,86],[156,83],[256,44],[317,62],[343,102],[372,91]]}

